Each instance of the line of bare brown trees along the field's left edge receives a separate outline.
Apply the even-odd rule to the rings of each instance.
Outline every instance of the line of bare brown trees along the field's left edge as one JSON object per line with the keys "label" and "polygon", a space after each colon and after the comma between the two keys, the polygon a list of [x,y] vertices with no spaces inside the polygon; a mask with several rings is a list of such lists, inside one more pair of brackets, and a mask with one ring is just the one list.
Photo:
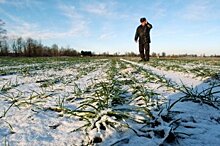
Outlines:
{"label": "line of bare brown trees along the field's left edge", "polygon": [[80,53],[69,47],[61,47],[54,44],[51,47],[44,46],[40,41],[32,38],[9,40],[7,31],[4,29],[5,23],[0,19],[0,56],[78,56]]}

